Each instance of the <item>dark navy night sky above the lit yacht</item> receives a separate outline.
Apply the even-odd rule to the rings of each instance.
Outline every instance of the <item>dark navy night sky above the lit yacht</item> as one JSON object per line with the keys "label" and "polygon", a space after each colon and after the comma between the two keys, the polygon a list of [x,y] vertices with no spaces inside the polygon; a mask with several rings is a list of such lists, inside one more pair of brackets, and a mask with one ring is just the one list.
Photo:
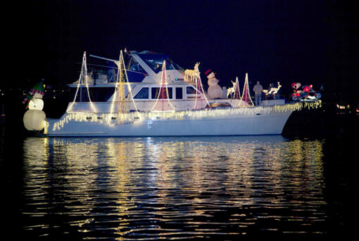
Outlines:
{"label": "dark navy night sky above the lit yacht", "polygon": [[[215,70],[220,85],[248,72],[253,83],[324,84],[358,99],[355,1],[26,1],[3,20],[13,81],[77,79],[83,51],[118,58],[119,50],[163,52],[183,68]],[[15,58],[14,58],[15,57]],[[15,76],[15,78],[14,78]],[[16,81],[15,81],[16,80]]]}

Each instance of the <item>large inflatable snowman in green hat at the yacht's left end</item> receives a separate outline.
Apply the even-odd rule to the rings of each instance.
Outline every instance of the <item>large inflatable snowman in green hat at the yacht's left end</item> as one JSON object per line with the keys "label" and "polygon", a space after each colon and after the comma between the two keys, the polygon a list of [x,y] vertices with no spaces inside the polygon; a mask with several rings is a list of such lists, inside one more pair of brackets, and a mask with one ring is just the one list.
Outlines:
{"label": "large inflatable snowman in green hat at the yacht's left end", "polygon": [[30,89],[29,94],[27,94],[26,99],[23,101],[25,104],[28,102],[28,110],[24,114],[24,125],[27,130],[42,130],[44,129],[46,114],[42,109],[44,108],[44,84],[43,82],[37,83],[32,89]]}

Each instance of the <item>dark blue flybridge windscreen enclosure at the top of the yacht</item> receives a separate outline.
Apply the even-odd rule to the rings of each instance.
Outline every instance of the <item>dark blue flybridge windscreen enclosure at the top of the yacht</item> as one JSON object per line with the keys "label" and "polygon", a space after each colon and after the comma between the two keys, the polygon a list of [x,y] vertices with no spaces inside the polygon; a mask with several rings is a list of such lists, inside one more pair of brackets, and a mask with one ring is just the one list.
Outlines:
{"label": "dark blue flybridge windscreen enclosure at the top of the yacht", "polygon": [[165,54],[139,54],[139,56],[151,67],[151,69],[158,73],[162,70],[163,61],[166,61],[166,70],[182,70],[177,63],[173,62]]}

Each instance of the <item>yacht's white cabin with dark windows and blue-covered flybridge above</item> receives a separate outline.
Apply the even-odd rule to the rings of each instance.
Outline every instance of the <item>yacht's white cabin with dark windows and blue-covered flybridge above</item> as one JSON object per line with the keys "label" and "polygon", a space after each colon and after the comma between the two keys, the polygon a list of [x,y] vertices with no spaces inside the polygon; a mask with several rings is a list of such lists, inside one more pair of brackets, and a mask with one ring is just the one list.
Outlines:
{"label": "yacht's white cabin with dark windows and blue-covered flybridge above", "polygon": [[[150,111],[153,104],[158,101],[158,94],[161,87],[162,66],[165,61],[165,72],[167,91],[166,97],[168,99],[161,99],[168,105],[175,108],[175,111],[184,111],[194,109],[203,109],[208,107],[208,101],[200,90],[196,89],[194,82],[185,80],[184,69],[173,62],[172,59],[165,54],[158,54],[153,51],[130,51],[127,52],[126,73],[128,83],[125,83],[125,109],[124,111]],[[93,56],[94,58],[107,61],[108,66],[95,65],[90,70],[87,76],[87,82],[81,83],[79,80],[73,84],[68,85],[73,91],[75,99],[73,100],[71,110],[81,111],[85,110],[89,102],[96,104],[96,112],[110,113],[110,104],[115,97],[115,86],[117,82],[117,71],[120,62],[117,60]],[[78,88],[78,89],[77,89]],[[88,90],[87,90],[88,89]],[[78,94],[75,94],[78,92]],[[118,95],[117,95],[118,96]],[[133,101],[132,101],[133,100]],[[166,101],[167,100],[167,101]],[[115,100],[117,101],[117,100]],[[216,102],[218,106],[219,101]],[[222,102],[222,101],[220,101]],[[134,106],[134,103],[136,106]],[[232,107],[231,104],[226,104],[227,107]],[[85,111],[86,112],[86,111]]]}

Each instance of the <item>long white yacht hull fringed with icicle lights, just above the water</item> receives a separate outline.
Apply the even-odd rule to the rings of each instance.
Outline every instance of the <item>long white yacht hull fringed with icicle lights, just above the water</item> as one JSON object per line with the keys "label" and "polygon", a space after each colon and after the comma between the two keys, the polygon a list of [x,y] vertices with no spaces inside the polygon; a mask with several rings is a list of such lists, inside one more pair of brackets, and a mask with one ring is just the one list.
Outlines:
{"label": "long white yacht hull fringed with icicle lights, just above the water", "polygon": [[47,119],[45,133],[50,137],[280,135],[292,111],[251,107],[139,116],[129,113],[122,122],[108,113],[65,113],[61,119]]}

